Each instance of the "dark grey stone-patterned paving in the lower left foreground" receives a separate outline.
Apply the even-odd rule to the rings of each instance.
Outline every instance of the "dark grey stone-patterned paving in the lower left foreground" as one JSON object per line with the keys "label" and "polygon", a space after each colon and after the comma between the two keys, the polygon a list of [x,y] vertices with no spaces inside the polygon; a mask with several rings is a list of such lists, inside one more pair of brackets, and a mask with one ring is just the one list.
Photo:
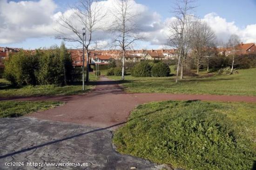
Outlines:
{"label": "dark grey stone-patterned paving in the lower left foreground", "polygon": [[[149,161],[117,153],[111,138],[112,132],[107,129],[36,118],[0,118],[0,170],[162,169]],[[23,162],[24,166],[5,166],[6,162]],[[38,166],[27,166],[33,162]],[[88,166],[56,166],[56,163],[88,163]]]}

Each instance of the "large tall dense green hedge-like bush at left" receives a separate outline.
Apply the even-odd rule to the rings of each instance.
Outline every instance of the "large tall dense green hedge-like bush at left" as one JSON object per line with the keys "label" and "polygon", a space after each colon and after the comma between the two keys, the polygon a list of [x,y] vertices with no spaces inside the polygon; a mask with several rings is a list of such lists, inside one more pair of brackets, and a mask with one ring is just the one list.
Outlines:
{"label": "large tall dense green hedge-like bush at left", "polygon": [[4,75],[13,85],[66,85],[72,81],[72,60],[65,45],[50,50],[13,53]]}

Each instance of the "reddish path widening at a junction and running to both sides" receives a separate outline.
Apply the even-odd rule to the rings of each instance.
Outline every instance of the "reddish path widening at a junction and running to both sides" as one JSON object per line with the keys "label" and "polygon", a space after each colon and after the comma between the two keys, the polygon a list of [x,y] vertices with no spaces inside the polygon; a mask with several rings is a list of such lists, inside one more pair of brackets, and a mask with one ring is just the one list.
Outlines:
{"label": "reddish path widening at a junction and running to both sides", "polygon": [[85,124],[101,128],[114,126],[111,129],[115,129],[117,124],[126,122],[129,112],[136,105],[152,101],[206,100],[256,103],[256,97],[245,96],[125,93],[115,81],[111,81],[105,77],[101,78],[94,90],[84,95],[12,99],[66,101],[66,105],[47,111],[36,112],[29,116],[39,119]]}

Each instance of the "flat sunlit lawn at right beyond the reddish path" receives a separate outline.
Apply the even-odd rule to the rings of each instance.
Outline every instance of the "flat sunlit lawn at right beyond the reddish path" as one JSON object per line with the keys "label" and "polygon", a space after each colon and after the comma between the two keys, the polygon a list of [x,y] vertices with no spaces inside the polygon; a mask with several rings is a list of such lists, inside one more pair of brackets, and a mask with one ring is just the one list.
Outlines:
{"label": "flat sunlit lawn at right beyond the reddish path", "polygon": [[[239,74],[212,77],[204,73],[198,77],[185,77],[178,84],[175,84],[175,76],[134,78],[127,75],[123,86],[127,87],[127,92],[256,96],[256,68],[238,70],[238,72]],[[109,76],[109,78],[121,79],[118,76]]]}

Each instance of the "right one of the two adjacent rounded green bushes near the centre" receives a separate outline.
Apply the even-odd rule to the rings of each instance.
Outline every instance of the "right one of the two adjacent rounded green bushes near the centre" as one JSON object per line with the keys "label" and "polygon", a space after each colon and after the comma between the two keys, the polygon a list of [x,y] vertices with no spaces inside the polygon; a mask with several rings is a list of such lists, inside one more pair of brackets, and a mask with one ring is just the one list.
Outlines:
{"label": "right one of the two adjacent rounded green bushes near the centre", "polygon": [[170,74],[170,68],[163,62],[155,63],[151,69],[152,77],[167,77]]}

